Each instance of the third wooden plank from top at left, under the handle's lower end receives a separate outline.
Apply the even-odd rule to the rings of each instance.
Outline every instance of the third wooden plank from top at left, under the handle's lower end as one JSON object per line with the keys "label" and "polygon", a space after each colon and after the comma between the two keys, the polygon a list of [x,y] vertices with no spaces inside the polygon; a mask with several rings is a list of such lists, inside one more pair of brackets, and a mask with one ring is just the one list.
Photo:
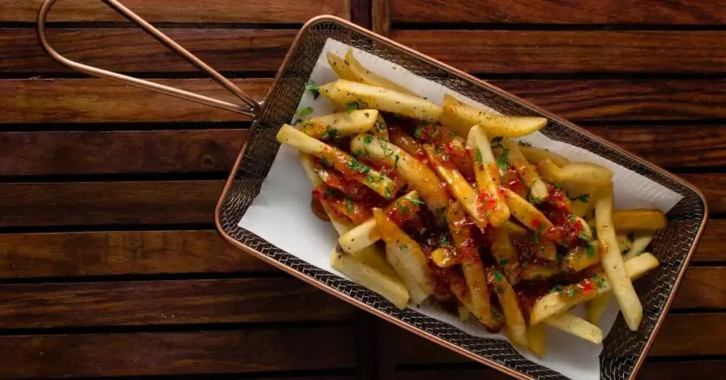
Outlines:
{"label": "third wooden plank from top at left, under the handle's lower end", "polygon": [[[211,79],[154,79],[208,97],[240,102]],[[272,79],[234,79],[262,100]],[[249,121],[247,116],[197,105],[106,79],[0,80],[0,123]]]}

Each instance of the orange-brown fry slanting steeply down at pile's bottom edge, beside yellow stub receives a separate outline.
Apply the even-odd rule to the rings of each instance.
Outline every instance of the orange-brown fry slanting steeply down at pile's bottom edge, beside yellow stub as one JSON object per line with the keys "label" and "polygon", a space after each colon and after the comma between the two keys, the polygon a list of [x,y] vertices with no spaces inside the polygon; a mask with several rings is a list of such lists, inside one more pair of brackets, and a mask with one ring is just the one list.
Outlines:
{"label": "orange-brown fry slanting steeply down at pile's bottom edge, beside yellow stub", "polygon": [[527,347],[527,325],[524,322],[522,310],[519,308],[517,294],[505,278],[505,275],[499,270],[489,268],[486,275],[489,282],[492,283],[494,293],[499,298],[499,304],[502,304],[507,336],[514,343]]}

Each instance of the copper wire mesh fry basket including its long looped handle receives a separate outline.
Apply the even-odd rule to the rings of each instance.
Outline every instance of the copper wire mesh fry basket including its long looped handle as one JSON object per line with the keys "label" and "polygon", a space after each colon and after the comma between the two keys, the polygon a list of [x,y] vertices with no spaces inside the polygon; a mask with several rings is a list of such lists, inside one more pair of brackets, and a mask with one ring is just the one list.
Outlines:
{"label": "copper wire mesh fry basket including its long looped handle", "polygon": [[[277,129],[293,118],[295,108],[304,92],[317,57],[327,39],[334,39],[385,60],[397,63],[418,76],[431,79],[449,89],[481,102],[501,113],[523,116],[544,116],[549,119],[542,133],[553,140],[584,147],[590,152],[637,172],[683,196],[668,213],[669,225],[658,232],[652,243],[652,252],[661,265],[635,283],[643,302],[644,318],[640,330],[630,331],[619,316],[605,338],[600,355],[600,379],[633,379],[653,343],[658,328],[674,298],[693,251],[698,245],[706,225],[708,207],[703,194],[693,185],[675,177],[664,169],[621,150],[569,121],[541,110],[518,97],[491,84],[469,76],[424,54],[397,44],[382,36],[348,23],[338,17],[315,17],[306,23],[295,38],[272,82],[263,102],[256,102],[244,94],[231,81],[221,76],[193,54],[169,39],[141,17],[117,0],[101,0],[109,7],[135,23],[155,39],[196,68],[208,73],[217,83],[234,94],[241,105],[216,100],[192,92],[155,84],[130,76],[83,65],[62,57],[47,42],[45,22],[49,9],[57,0],[46,0],[38,12],[38,38],[46,52],[55,60],[74,70],[92,76],[109,78],[133,86],[169,94],[193,102],[210,105],[253,116],[250,137],[242,146],[232,173],[219,198],[215,222],[219,233],[234,246],[265,262],[311,283],[340,299],[356,305],[380,318],[417,333],[444,347],[473,360],[490,365],[518,379],[568,379],[562,374],[533,363],[507,341],[471,336],[439,320],[428,318],[414,310],[399,310],[378,294],[314,267],[301,259],[273,246],[258,235],[237,227],[254,198],[260,192],[280,144],[275,140]],[[583,344],[587,344],[583,342]]]}

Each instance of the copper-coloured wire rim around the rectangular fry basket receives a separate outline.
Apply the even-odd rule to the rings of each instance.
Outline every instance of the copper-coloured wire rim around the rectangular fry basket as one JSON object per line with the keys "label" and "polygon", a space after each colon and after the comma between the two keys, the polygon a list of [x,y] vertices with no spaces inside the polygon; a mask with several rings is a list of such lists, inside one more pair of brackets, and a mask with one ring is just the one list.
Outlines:
{"label": "copper-coloured wire rim around the rectangular fry basket", "polygon": [[[523,105],[526,108],[530,108],[531,110],[534,110],[538,113],[541,113],[543,116],[550,118],[552,120],[558,121],[560,124],[564,124],[572,129],[575,129],[580,134],[584,134],[587,137],[590,137],[592,140],[595,140],[599,142],[600,144],[605,145],[605,147],[608,147],[611,150],[615,150],[618,153],[621,153],[622,155],[627,156],[628,158],[632,159],[633,161],[648,167],[649,169],[656,171],[665,177],[672,179],[674,182],[677,182],[678,184],[687,187],[688,190],[693,191],[696,195],[698,195],[698,198],[703,203],[703,217],[701,221],[699,222],[698,231],[696,232],[695,238],[693,238],[693,243],[690,246],[690,249],[688,251],[688,255],[685,257],[683,265],[681,270],[679,271],[677,278],[674,281],[673,291],[669,295],[668,299],[666,300],[666,304],[664,305],[664,308],[660,315],[658,315],[658,320],[656,322],[656,325],[653,328],[653,331],[650,333],[650,336],[648,336],[648,340],[645,342],[645,347],[643,347],[643,351],[640,352],[640,355],[637,357],[637,361],[633,367],[632,373],[628,377],[628,380],[635,379],[635,376],[637,375],[637,372],[640,370],[640,367],[643,365],[643,362],[645,360],[646,355],[648,354],[648,351],[650,350],[651,345],[653,344],[653,341],[655,340],[658,331],[661,328],[661,325],[664,321],[664,318],[666,317],[671,304],[675,298],[675,294],[677,293],[677,289],[680,286],[680,283],[682,282],[685,271],[688,269],[688,266],[691,262],[691,259],[693,259],[693,254],[696,251],[696,248],[698,246],[698,243],[701,240],[701,237],[703,235],[703,230],[706,227],[706,222],[708,221],[709,217],[709,206],[706,202],[706,197],[703,195],[701,190],[698,189],[698,187],[694,186],[690,182],[686,181],[685,179],[682,179],[678,177],[675,174],[672,174],[669,171],[666,171],[665,169],[661,168],[661,166],[658,166],[654,163],[651,163],[648,160],[645,160],[645,158],[641,158],[633,153],[628,152],[627,150],[624,150],[623,148],[619,147],[618,145],[613,144],[612,142],[609,142],[608,140],[603,139],[602,137],[598,137],[595,134],[592,134],[592,132],[587,131],[587,129],[582,128],[581,126],[578,126],[571,121],[566,120],[565,118],[562,118],[554,113],[550,113],[550,111],[544,110],[542,108],[539,108],[537,105],[534,105],[533,103],[523,100],[520,97],[517,97],[514,94],[510,94],[509,92],[506,92],[503,89],[500,89],[497,86],[494,86],[492,84],[489,84],[489,82],[484,81],[480,78],[476,78],[475,76],[472,76],[468,73],[465,73],[462,70],[459,70],[457,68],[452,67],[451,65],[447,65],[444,62],[440,62],[439,60],[436,60],[432,57],[429,57],[426,54],[423,54],[421,52],[418,52],[415,49],[411,49],[409,47],[406,47],[405,45],[399,44],[396,41],[393,41],[391,39],[388,39],[385,36],[380,36],[378,33],[374,33],[372,31],[369,31],[365,28],[362,28],[359,25],[356,25],[354,23],[351,23],[348,20],[344,20],[340,17],[332,16],[332,15],[321,15],[317,17],[313,17],[308,22],[306,22],[300,31],[298,31],[298,34],[295,36],[295,39],[293,40],[293,43],[290,45],[290,48],[287,50],[287,53],[285,54],[285,58],[282,61],[282,64],[280,65],[280,68],[277,70],[277,73],[275,75],[274,80],[272,81],[272,84],[270,84],[269,88],[267,89],[267,92],[261,101],[261,108],[258,111],[258,115],[264,113],[264,110],[266,109],[266,99],[269,97],[269,94],[272,94],[273,90],[277,86],[278,81],[280,81],[280,78],[282,76],[282,73],[287,68],[287,65],[290,62],[290,57],[292,56],[293,52],[295,51],[295,47],[298,46],[298,42],[302,38],[302,36],[314,25],[321,22],[333,22],[338,23],[339,25],[342,25],[346,28],[352,29],[356,33],[361,33],[370,39],[374,39],[386,44],[391,44],[393,47],[396,47],[398,49],[404,50],[405,52],[421,59],[425,60],[426,62],[430,63],[431,65],[439,66],[439,68],[443,68],[444,70],[449,71],[449,73],[454,74],[455,76],[459,76],[461,78],[465,78],[468,81],[472,81],[475,84],[478,84],[480,86],[486,87],[489,91],[492,91],[496,94],[498,94],[501,97],[505,97],[508,100],[513,100],[515,102],[518,102],[520,105]],[[254,129],[257,128],[258,120],[255,118],[253,121],[252,126],[250,127],[250,135],[254,131]],[[425,339],[428,339],[430,341],[433,341],[436,344],[439,344],[443,347],[446,347],[448,349],[451,349],[454,352],[459,353],[460,355],[464,355],[465,357],[470,358],[471,360],[475,360],[478,363],[482,363],[484,365],[488,365],[489,367],[492,367],[494,369],[497,369],[498,371],[501,371],[503,373],[507,373],[510,376],[513,376],[517,379],[521,380],[535,380],[533,377],[528,376],[524,373],[518,372],[513,370],[512,368],[509,368],[505,365],[502,365],[500,363],[495,362],[494,360],[490,360],[486,357],[481,357],[479,355],[476,355],[473,352],[468,351],[467,349],[463,349],[462,347],[458,347],[457,345],[453,344],[450,341],[447,341],[446,339],[442,339],[439,336],[435,336],[432,333],[429,333],[428,331],[423,331],[420,328],[417,328],[415,326],[410,325],[409,323],[404,322],[403,320],[399,320],[396,318],[393,318],[391,315],[386,314],[383,311],[378,310],[375,307],[370,306],[369,304],[365,304],[364,302],[360,302],[357,299],[354,299],[352,296],[349,296],[348,294],[345,294],[341,291],[338,291],[337,289],[333,288],[332,286],[326,285],[325,283],[319,282],[319,280],[316,280],[314,278],[311,278],[309,275],[305,275],[302,272],[298,272],[297,270],[287,267],[287,265],[282,264],[281,262],[278,262],[276,259],[273,259],[272,257],[269,257],[265,254],[262,254],[260,251],[256,250],[255,248],[251,248],[250,246],[247,246],[245,243],[240,242],[239,240],[236,240],[235,238],[232,238],[225,230],[224,227],[222,227],[221,224],[221,212],[224,205],[224,200],[227,198],[227,193],[229,192],[229,189],[232,187],[232,184],[234,182],[235,174],[237,173],[237,170],[240,167],[240,164],[242,163],[242,158],[244,158],[245,150],[248,147],[249,140],[245,140],[245,142],[242,143],[242,147],[240,147],[240,151],[237,155],[237,158],[234,161],[234,166],[232,166],[232,169],[230,171],[229,176],[227,177],[227,182],[224,184],[224,188],[221,192],[221,195],[219,196],[219,200],[216,203],[216,207],[214,210],[214,224],[216,226],[216,230],[221,235],[222,238],[227,240],[229,243],[232,244],[235,248],[238,248],[242,251],[244,251],[247,254],[251,254],[255,256],[258,259],[263,260],[267,264],[271,264],[274,267],[277,267],[277,269],[280,269],[284,272],[287,272],[290,275],[293,275],[295,278],[298,278],[300,280],[305,281],[306,283],[309,283],[312,286],[315,286],[316,288],[321,289],[322,291],[325,291],[327,294],[331,294],[333,296],[338,297],[339,299],[342,299],[345,302],[348,302],[349,304],[352,304],[356,307],[359,307],[362,310],[365,310],[367,312],[370,312],[373,315],[378,316],[379,318],[382,318],[383,320],[386,320],[390,323],[393,323],[396,326],[399,326],[401,328],[406,329],[407,331],[411,331],[412,333],[415,333],[418,336],[423,336]]]}

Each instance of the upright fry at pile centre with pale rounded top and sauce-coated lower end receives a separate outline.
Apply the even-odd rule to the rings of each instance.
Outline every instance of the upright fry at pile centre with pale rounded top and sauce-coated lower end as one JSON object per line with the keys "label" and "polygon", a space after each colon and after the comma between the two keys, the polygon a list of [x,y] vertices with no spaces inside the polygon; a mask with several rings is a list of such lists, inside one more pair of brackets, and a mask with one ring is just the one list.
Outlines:
{"label": "upright fry at pile centre with pale rounded top and sauce-coated lower end", "polygon": [[499,179],[497,160],[494,159],[492,147],[489,145],[489,137],[479,126],[473,126],[469,130],[466,144],[474,152],[474,174],[476,176],[477,190],[479,193],[486,192],[486,196],[481,197],[480,200],[484,204],[480,206],[484,206],[486,217],[494,227],[502,227],[509,220],[510,212],[504,197],[499,193],[501,179]]}

